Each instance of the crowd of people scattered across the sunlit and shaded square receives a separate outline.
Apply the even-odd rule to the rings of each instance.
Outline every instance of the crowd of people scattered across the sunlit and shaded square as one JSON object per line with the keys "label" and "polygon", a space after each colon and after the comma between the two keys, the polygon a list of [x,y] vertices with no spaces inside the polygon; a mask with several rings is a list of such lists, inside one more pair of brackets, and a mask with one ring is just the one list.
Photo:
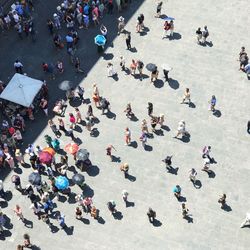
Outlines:
{"label": "crowd of people scattered across the sunlit and shaded square", "polygon": [[[124,1],[124,4],[128,4],[130,1]],[[163,3],[158,2],[156,6],[156,18],[159,18],[161,15],[161,8]],[[25,20],[28,18],[29,25],[32,25],[33,21],[31,20],[31,11],[34,6],[31,0],[22,1],[21,3],[16,3],[15,9],[12,9],[11,13],[0,17],[0,25],[1,28],[6,30],[10,28],[11,19],[14,19],[15,27],[18,30],[18,35],[21,39],[23,39],[22,32],[25,31],[23,27],[25,25]],[[112,14],[113,12],[113,2],[112,0],[107,1],[70,1],[64,0],[61,5],[56,8],[55,13],[51,19],[47,20],[47,27],[50,34],[53,36],[53,42],[57,49],[63,49],[64,44],[66,44],[66,49],[68,54],[70,55],[70,59],[74,64],[74,67],[77,72],[81,73],[82,69],[80,68],[80,59],[75,56],[75,50],[77,43],[79,41],[78,29],[88,29],[90,23],[93,23],[94,26],[98,27],[100,25],[100,20],[103,16],[107,14]],[[144,15],[140,14],[137,18],[137,23],[135,27],[136,32],[143,32],[144,26]],[[120,33],[126,34],[126,45],[127,49],[131,49],[131,32],[126,31],[125,19],[121,16],[117,20],[118,22],[118,35]],[[19,27],[21,26],[21,28]],[[65,26],[65,27],[63,27]],[[30,26],[29,29],[30,30]],[[65,29],[67,30],[67,35],[65,39],[61,38],[58,33],[58,30]],[[21,30],[19,32],[19,30]],[[100,25],[100,30],[102,34],[107,38],[107,28],[104,25]],[[29,31],[31,32],[31,31]],[[174,35],[174,23],[173,20],[170,22],[165,21],[164,23],[164,33],[163,37],[168,35],[172,37]],[[207,26],[204,27],[204,31],[201,31],[201,28],[198,28],[196,31],[197,42],[202,45],[206,43],[206,39],[209,36],[209,32]],[[248,62],[248,56],[245,52],[245,48],[242,47],[242,50],[239,54],[240,61],[240,70],[246,72],[248,75],[250,74],[250,66]],[[14,69],[16,73],[23,74],[23,64],[18,59],[14,62]],[[143,78],[143,70],[144,63],[141,59],[132,59],[130,65],[127,67],[127,62],[124,56],[120,56],[120,67],[121,71],[128,70],[129,74],[132,76],[139,75],[139,79],[142,81]],[[64,72],[63,62],[58,61],[56,67],[53,64],[43,62],[42,70],[45,73],[50,73],[51,79],[55,79],[55,68],[58,70],[58,73]],[[150,82],[154,83],[157,81],[159,77],[159,69],[156,65],[146,64],[146,69],[151,72]],[[165,81],[168,81],[168,72],[169,70],[163,68],[163,74],[165,77]],[[118,74],[118,71],[114,69],[114,65],[112,62],[109,62],[107,65],[107,76],[115,77]],[[4,90],[6,85],[1,82],[0,83],[0,93]],[[78,156],[78,138],[76,138],[74,134],[74,130],[76,126],[83,125],[90,133],[90,136],[93,136],[96,128],[96,118],[97,115],[94,115],[94,112],[101,111],[100,114],[103,115],[105,113],[111,113],[110,110],[110,101],[106,99],[106,97],[100,95],[100,90],[96,83],[93,84],[92,96],[91,96],[91,104],[85,104],[85,90],[83,86],[78,86],[76,89],[72,87],[68,87],[66,90],[67,100],[58,100],[55,104],[52,112],[56,117],[48,120],[48,127],[51,129],[51,133],[45,135],[44,141],[46,143],[46,147],[42,148],[40,145],[33,145],[33,143],[28,144],[24,148],[24,145],[27,142],[23,141],[22,133],[26,131],[27,127],[25,124],[25,120],[34,120],[33,109],[34,107],[27,108],[24,113],[21,113],[21,110],[17,110],[16,114],[7,117],[2,121],[1,125],[1,138],[0,138],[0,171],[1,168],[10,168],[11,171],[16,168],[26,166],[31,168],[32,174],[37,179],[29,179],[29,184],[24,185],[26,180],[22,179],[20,175],[12,174],[11,181],[13,183],[13,187],[20,191],[21,195],[26,196],[30,200],[30,204],[27,207],[21,207],[19,204],[13,208],[13,212],[18,218],[18,220],[22,221],[24,224],[27,222],[25,217],[25,209],[30,208],[34,215],[37,216],[39,220],[46,223],[48,228],[53,230],[54,221],[54,208],[56,201],[60,201],[61,196],[66,196],[68,199],[74,199],[77,203],[75,207],[75,218],[77,220],[82,220],[83,215],[89,214],[93,219],[101,220],[100,210],[94,205],[94,199],[91,196],[84,195],[84,191],[81,192],[81,189],[84,190],[86,187],[86,183],[82,181],[77,185],[80,188],[79,194],[75,194],[71,191],[70,187],[67,186],[65,188],[60,188],[58,184],[58,178],[62,177],[64,180],[68,179],[69,169],[69,157],[72,155],[74,161],[74,165],[77,166],[80,170],[81,162],[79,161]],[[81,101],[81,105],[74,109],[74,112],[68,112],[67,106],[70,104],[72,100],[79,99]],[[45,119],[51,112],[48,109],[48,101],[49,101],[49,92],[46,81],[44,81],[43,87],[41,89],[39,95],[39,105],[38,107],[43,110],[45,114]],[[181,104],[192,105],[191,101],[191,93],[190,89],[186,88],[183,97],[180,97]],[[216,104],[217,100],[215,95],[211,97],[208,101],[209,103],[209,111],[216,112]],[[87,106],[86,115],[83,115],[83,106]],[[4,107],[4,106],[2,106]],[[93,109],[94,107],[94,109]],[[133,112],[132,104],[127,103],[123,112],[125,116],[130,120],[136,119],[136,114]],[[148,117],[141,121],[140,131],[141,136],[138,140],[142,144],[142,148],[146,150],[148,146],[148,138],[152,138],[153,134],[156,133],[159,129],[164,129],[165,120],[164,114],[155,114],[154,113],[154,105],[149,102],[148,106],[145,107],[148,111]],[[6,115],[6,114],[5,114]],[[65,123],[69,123],[69,125],[65,125]],[[150,127],[148,126],[150,124]],[[247,131],[250,133],[250,121],[247,124]],[[67,151],[66,145],[61,145],[60,138],[67,137],[67,141],[70,141],[70,146],[73,145],[76,150]],[[186,129],[186,122],[181,120],[178,123],[176,134],[173,135],[174,138],[185,140],[190,137],[189,132]],[[124,143],[126,146],[131,144],[132,133],[129,127],[124,128]],[[61,155],[58,159],[59,152],[65,149],[63,155]],[[71,149],[71,147],[70,147]],[[107,156],[111,161],[114,160],[115,156],[112,154],[112,151],[116,151],[115,147],[112,144],[107,145],[107,148],[104,149],[106,151]],[[46,155],[50,157],[49,160],[44,160],[42,155]],[[173,156],[166,156],[162,162],[165,164],[166,169],[169,172],[176,171],[172,166]],[[208,175],[213,174],[211,170],[211,165],[215,164],[216,161],[213,157],[211,157],[211,146],[206,145],[203,149],[201,149],[201,160],[203,160],[203,166],[201,168],[202,171],[208,173]],[[91,168],[91,163],[90,163]],[[75,174],[79,174],[81,171],[78,170]],[[129,164],[127,162],[122,163],[120,165],[120,171],[124,174],[124,178],[130,178],[129,174]],[[194,186],[199,185],[197,180],[198,171],[195,168],[191,168],[187,173],[187,179],[190,180]],[[33,175],[32,175],[33,177]],[[179,184],[176,184],[173,187],[173,195],[176,199],[181,202],[180,205],[180,213],[183,219],[192,220],[189,209],[186,206],[186,203],[183,201],[182,196],[182,188]],[[6,200],[6,190],[4,189],[4,183],[0,180],[0,197]],[[122,190],[121,198],[123,199],[125,205],[128,204],[128,196],[129,192],[127,190]],[[229,206],[226,201],[226,194],[222,194],[218,198],[218,203],[220,203],[222,209],[227,209]],[[116,215],[117,206],[114,200],[107,201],[107,209],[110,211],[112,215]],[[156,211],[153,208],[149,207],[148,211],[145,211],[145,214],[148,216],[149,221],[151,223],[155,223],[156,221]],[[68,229],[67,223],[65,222],[65,215],[62,213],[56,213],[56,221],[61,229]],[[245,222],[241,225],[241,227],[245,226],[250,222],[249,215]],[[0,211],[0,233],[4,232],[5,225],[5,217],[3,211]],[[23,249],[24,247],[30,247],[31,241],[28,234],[24,234],[24,243],[17,246],[17,249]]]}

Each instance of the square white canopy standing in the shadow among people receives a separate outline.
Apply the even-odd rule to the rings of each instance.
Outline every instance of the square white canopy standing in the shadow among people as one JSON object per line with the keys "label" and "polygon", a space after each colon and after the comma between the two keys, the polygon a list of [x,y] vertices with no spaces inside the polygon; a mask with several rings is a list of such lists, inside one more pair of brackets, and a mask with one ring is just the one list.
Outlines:
{"label": "square white canopy standing in the shadow among people", "polygon": [[42,85],[40,80],[16,73],[1,93],[0,98],[29,107]]}

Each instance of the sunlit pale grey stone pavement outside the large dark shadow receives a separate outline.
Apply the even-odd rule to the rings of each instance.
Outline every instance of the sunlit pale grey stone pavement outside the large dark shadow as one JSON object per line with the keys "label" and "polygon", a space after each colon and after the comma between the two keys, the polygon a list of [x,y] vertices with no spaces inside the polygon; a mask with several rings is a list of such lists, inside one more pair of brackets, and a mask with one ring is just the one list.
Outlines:
{"label": "sunlit pale grey stone pavement outside the large dark shadow", "polygon": [[[61,230],[51,233],[27,209],[29,201],[14,190],[13,199],[3,209],[13,223],[10,230],[12,235],[0,243],[1,248],[14,249],[24,232],[30,234],[34,244],[46,250],[52,247],[91,250],[249,248],[249,228],[239,228],[250,207],[247,199],[250,142],[246,133],[250,114],[249,81],[238,71],[237,62],[240,47],[246,46],[249,50],[249,29],[245,25],[249,21],[247,1],[217,1],[216,4],[200,0],[164,2],[163,13],[176,18],[175,32],[178,39],[171,41],[161,39],[163,22],[154,18],[155,6],[152,2],[144,1],[138,9],[134,9],[136,12],[126,25],[126,29],[132,32],[132,47],[137,52],[131,53],[125,49],[123,35],[118,36],[113,46],[106,51],[106,58],[113,57],[119,81],[107,78],[108,61],[100,58],[81,82],[88,98],[91,98],[92,84],[96,82],[101,95],[110,101],[111,110],[116,114],[115,120],[109,119],[94,109],[94,114],[100,120],[95,126],[99,135],[90,137],[84,127],[81,127],[81,133],[76,133],[82,140],[81,147],[89,150],[90,159],[95,165],[90,175],[84,174],[92,189],[86,193],[94,195],[94,204],[100,209],[102,223],[90,216],[85,216],[87,220],[84,222],[76,221],[75,204],[64,200],[57,202],[56,210],[62,211],[66,215],[67,225],[74,228],[69,230],[69,235]],[[134,3],[133,7],[138,5]],[[140,13],[144,13],[145,26],[149,29],[143,36],[135,33],[136,17]],[[204,25],[210,31],[212,47],[198,46],[195,42],[195,30]],[[85,51],[86,48],[79,49],[79,53],[84,54]],[[172,80],[169,84],[158,81],[153,86],[149,78],[143,81],[134,79],[120,71],[120,55],[125,56],[127,66],[131,59],[141,59],[145,65],[149,62],[159,66],[167,63],[173,67],[170,72]],[[36,59],[36,54],[33,58]],[[149,74],[146,69],[144,73]],[[66,76],[67,72],[62,78]],[[194,108],[179,104],[186,87],[191,90]],[[208,100],[213,94],[217,97],[217,108],[221,113],[219,117],[208,111]],[[140,124],[142,119],[148,120],[146,106],[149,101],[154,104],[155,114],[165,114],[168,129],[163,130],[162,136],[154,135],[153,139],[149,139],[152,150],[144,151],[139,141]],[[139,121],[129,121],[123,113],[128,102],[132,104]],[[71,110],[72,107],[67,111]],[[85,114],[87,105],[82,105],[80,110]],[[178,122],[182,119],[186,121],[191,134],[189,142],[173,138]],[[124,146],[126,127],[131,129],[132,141],[138,144],[135,148]],[[35,144],[45,146],[43,136],[46,133],[51,134],[51,131],[47,128],[41,130]],[[61,142],[64,145],[68,138],[62,137]],[[130,174],[136,178],[135,181],[124,179],[119,163],[111,163],[106,156],[105,148],[110,143],[117,149],[114,155],[120,157],[121,162],[129,163]],[[211,155],[217,161],[217,164],[211,165],[214,178],[209,178],[201,171],[204,145],[212,146]],[[161,159],[166,155],[173,155],[173,165],[179,168],[177,175],[165,170]],[[192,167],[198,172],[200,189],[194,188],[188,180],[188,170]],[[27,177],[30,171],[23,169],[22,176]],[[69,176],[72,176],[71,172]],[[182,219],[181,203],[172,194],[176,184],[182,187],[193,223]],[[5,180],[5,186],[6,189],[12,188],[9,177]],[[134,202],[133,207],[124,206],[121,198],[123,189],[128,190],[129,201]],[[80,192],[77,187],[72,187],[72,190]],[[231,207],[229,212],[220,209],[217,203],[223,192],[227,194],[227,202]],[[110,199],[116,201],[122,218],[114,219],[110,215],[106,207]],[[16,203],[23,207],[25,217],[33,221],[33,229],[25,228],[14,217],[12,209]],[[156,210],[159,220],[156,226],[148,222],[146,211],[149,206]],[[53,223],[57,225],[57,222]]]}

